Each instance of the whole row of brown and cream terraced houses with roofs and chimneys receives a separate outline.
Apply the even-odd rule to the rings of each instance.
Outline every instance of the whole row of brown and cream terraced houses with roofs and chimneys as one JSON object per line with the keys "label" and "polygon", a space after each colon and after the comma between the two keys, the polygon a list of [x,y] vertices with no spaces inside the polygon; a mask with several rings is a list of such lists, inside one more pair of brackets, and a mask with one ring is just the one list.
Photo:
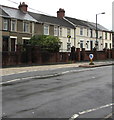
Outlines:
{"label": "whole row of brown and cream terraced houses with roofs and chimneys", "polygon": [[[28,44],[34,35],[58,36],[61,52],[71,47],[92,50],[96,44],[96,24],[66,17],[65,10],[59,9],[57,17],[28,11],[28,5],[20,3],[18,8],[0,6],[0,51],[16,51],[17,44]],[[112,48],[112,32],[98,24],[98,50]]]}

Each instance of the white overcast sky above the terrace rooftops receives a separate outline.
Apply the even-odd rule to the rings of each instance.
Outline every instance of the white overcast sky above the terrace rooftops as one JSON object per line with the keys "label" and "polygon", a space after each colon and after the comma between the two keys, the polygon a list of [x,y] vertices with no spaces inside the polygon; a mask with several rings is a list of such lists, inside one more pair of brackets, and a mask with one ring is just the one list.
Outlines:
{"label": "white overcast sky above the terrace rooftops", "polygon": [[[13,2],[11,2],[13,1]],[[96,22],[112,30],[112,2],[114,0],[3,0],[2,5],[18,7],[16,3],[25,2],[30,8],[41,11],[51,16],[56,16],[59,8],[65,10],[65,16]],[[31,9],[29,9],[31,11]],[[34,11],[37,12],[37,11]]]}

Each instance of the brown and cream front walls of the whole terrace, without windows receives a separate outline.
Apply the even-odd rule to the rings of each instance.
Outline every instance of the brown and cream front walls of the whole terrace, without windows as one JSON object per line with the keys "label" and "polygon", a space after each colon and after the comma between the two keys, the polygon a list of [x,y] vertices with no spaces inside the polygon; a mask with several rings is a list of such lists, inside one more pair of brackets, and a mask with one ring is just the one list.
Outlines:
{"label": "brown and cream front walls of the whole terrace, without windows", "polygon": [[[16,44],[23,44],[23,39],[29,39],[33,35],[42,35],[44,34],[44,23],[38,23],[38,22],[31,22],[30,23],[30,33],[24,33],[23,32],[23,20],[17,20],[17,31],[15,32],[8,32],[8,31],[3,31],[2,35],[3,36],[13,36],[16,37]],[[46,23],[48,24],[48,23]],[[54,35],[54,25],[48,24],[49,25],[49,35]],[[68,43],[71,44],[72,46],[75,46],[76,48],[81,47],[81,41],[83,41],[83,48],[86,50],[91,50],[91,41],[92,41],[92,48],[95,47],[95,41],[96,41],[96,31],[92,30],[92,37],[91,37],[91,31],[90,28],[78,26],[76,27],[76,31],[74,29],[70,28],[71,30],[71,38],[67,38],[67,27],[64,26],[59,26],[62,27],[62,36],[60,36],[60,31],[58,37],[61,40],[62,46],[61,50],[63,52],[67,51],[67,45]],[[83,28],[83,35],[80,35],[80,28]],[[9,30],[11,30],[11,19],[9,20]],[[88,35],[87,35],[87,30],[88,30]],[[76,38],[74,38],[76,36]],[[101,37],[102,36],[102,37]],[[112,37],[111,37],[112,38]],[[105,39],[105,31],[98,31],[98,50],[103,50],[105,48],[105,43],[107,43],[107,48],[110,48],[110,44],[112,44],[112,39],[110,39],[110,33],[107,32],[107,39]],[[11,49],[11,40],[9,39],[9,50]],[[67,51],[68,52],[68,51]]]}

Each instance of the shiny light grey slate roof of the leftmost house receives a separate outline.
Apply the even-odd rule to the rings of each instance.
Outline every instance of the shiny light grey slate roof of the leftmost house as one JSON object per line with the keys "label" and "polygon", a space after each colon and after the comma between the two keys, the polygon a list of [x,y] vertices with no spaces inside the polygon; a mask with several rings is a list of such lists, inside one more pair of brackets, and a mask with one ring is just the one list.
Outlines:
{"label": "shiny light grey slate roof of the leftmost house", "polygon": [[11,18],[37,22],[37,21],[36,21],[32,16],[30,16],[28,13],[25,14],[25,13],[23,13],[22,11],[20,11],[19,9],[2,6],[2,10],[3,10],[8,16],[10,16]]}

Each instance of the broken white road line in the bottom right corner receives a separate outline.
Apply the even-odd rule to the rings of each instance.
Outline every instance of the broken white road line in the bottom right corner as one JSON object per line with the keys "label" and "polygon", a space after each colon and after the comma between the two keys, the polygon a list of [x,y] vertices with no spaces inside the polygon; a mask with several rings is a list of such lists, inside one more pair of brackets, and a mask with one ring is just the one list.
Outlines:
{"label": "broken white road line in the bottom right corner", "polygon": [[103,106],[100,106],[100,107],[97,107],[97,108],[93,108],[93,109],[85,110],[85,111],[82,111],[82,112],[78,112],[77,114],[74,114],[69,120],[74,120],[77,117],[79,117],[80,115],[90,113],[90,112],[94,112],[94,111],[97,111],[97,110],[100,110],[100,109],[103,109],[103,108],[107,108],[107,107],[110,107],[110,106],[113,106],[113,105],[114,105],[114,103],[110,103],[110,104],[103,105]]}

